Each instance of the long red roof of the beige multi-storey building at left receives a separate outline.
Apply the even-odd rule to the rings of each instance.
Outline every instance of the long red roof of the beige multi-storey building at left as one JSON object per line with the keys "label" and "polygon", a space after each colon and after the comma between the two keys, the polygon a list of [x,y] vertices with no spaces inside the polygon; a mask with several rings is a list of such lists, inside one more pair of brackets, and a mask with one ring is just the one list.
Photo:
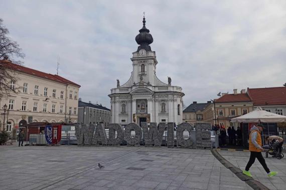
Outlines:
{"label": "long red roof of the beige multi-storey building at left", "polygon": [[42,72],[42,71],[39,71],[39,70],[28,68],[26,66],[22,66],[20,64],[14,64],[10,60],[0,60],[0,64],[5,66],[5,67],[7,67],[7,68],[10,68],[10,69],[13,69],[13,70],[16,70],[16,71],[19,71],[19,72],[24,72],[26,74],[30,74],[30,75],[33,75],[33,76],[38,76],[38,77],[45,78],[45,79],[48,79],[48,80],[53,80],[53,81],[64,83],[64,84],[72,84],[72,85],[80,87],[79,84],[77,84],[75,82],[72,82],[72,81],[70,81],[70,80],[68,80],[68,79],[66,79],[66,78],[64,78],[62,76],[59,76],[59,75],[56,75],[56,74],[50,74],[50,73]]}

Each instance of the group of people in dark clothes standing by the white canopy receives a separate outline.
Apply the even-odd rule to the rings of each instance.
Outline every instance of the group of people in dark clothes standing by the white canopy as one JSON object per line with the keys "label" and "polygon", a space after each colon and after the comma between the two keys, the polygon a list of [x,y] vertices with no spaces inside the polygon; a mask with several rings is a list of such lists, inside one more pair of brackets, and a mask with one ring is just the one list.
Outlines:
{"label": "group of people in dark clothes standing by the white canopy", "polygon": [[228,136],[230,145],[241,145],[242,143],[242,133],[241,129],[238,126],[235,130],[234,127],[228,127],[227,131],[223,124],[212,125],[212,130],[215,130],[219,135],[219,144],[226,145],[226,137]]}

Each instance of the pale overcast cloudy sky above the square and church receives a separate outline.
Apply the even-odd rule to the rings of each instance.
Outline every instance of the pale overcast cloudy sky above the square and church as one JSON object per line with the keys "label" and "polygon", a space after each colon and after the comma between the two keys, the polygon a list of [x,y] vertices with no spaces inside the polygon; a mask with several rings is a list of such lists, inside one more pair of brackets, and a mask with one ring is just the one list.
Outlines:
{"label": "pale overcast cloudy sky above the square and church", "polygon": [[24,66],[81,85],[83,101],[110,108],[116,79],[132,71],[135,36],[154,38],[156,75],[182,86],[184,106],[218,92],[286,82],[285,0],[0,0]]}

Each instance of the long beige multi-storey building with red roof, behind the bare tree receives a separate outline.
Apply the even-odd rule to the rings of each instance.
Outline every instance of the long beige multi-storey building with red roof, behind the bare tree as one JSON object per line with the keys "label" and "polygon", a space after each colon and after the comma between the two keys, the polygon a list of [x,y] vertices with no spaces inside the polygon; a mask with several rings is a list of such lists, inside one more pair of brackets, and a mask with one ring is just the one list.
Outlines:
{"label": "long beige multi-storey building with red roof, behind the bare tree", "polygon": [[[78,93],[80,85],[59,75],[41,72],[32,68],[1,60],[2,66],[15,71],[17,81],[10,88],[19,88],[0,99],[1,126],[6,130],[18,128],[31,122],[77,122]],[[4,105],[7,105],[4,121]],[[8,118],[8,120],[7,120]]]}

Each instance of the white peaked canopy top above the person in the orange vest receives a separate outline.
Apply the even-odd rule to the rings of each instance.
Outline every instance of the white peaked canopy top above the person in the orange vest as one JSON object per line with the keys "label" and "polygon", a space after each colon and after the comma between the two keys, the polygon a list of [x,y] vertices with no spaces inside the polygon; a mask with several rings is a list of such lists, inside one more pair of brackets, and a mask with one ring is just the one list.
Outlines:
{"label": "white peaked canopy top above the person in the orange vest", "polygon": [[231,119],[231,122],[286,122],[286,116],[262,110],[261,107]]}

